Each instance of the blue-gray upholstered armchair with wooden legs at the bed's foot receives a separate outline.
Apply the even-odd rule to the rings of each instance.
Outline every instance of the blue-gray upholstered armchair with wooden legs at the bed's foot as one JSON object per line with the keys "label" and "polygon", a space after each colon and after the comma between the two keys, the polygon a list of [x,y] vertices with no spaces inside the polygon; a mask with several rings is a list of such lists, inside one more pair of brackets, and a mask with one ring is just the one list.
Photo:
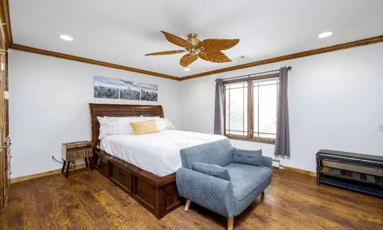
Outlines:
{"label": "blue-gray upholstered armchair with wooden legs at the bed's foot", "polygon": [[[232,229],[240,215],[271,183],[272,158],[261,150],[233,148],[224,139],[180,151],[182,168],[176,173],[178,193],[228,218]],[[200,164],[202,163],[202,164]]]}

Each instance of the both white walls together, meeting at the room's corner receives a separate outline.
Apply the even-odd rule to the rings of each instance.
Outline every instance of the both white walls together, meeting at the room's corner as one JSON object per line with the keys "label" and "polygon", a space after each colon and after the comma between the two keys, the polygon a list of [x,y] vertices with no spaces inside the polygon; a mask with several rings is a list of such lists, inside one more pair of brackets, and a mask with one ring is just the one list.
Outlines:
{"label": "both white walls together, meeting at the room's corner", "polygon": [[[291,157],[274,157],[274,146],[235,141],[262,149],[281,164],[315,171],[315,153],[332,149],[383,155],[383,43],[174,81],[112,68],[10,52],[12,177],[60,168],[61,144],[90,140],[88,103],[161,104],[181,130],[213,132],[216,78],[293,66],[289,72]],[[193,67],[193,66],[192,66]],[[158,84],[158,102],[93,98],[93,76]],[[181,95],[181,96],[180,96]]]}

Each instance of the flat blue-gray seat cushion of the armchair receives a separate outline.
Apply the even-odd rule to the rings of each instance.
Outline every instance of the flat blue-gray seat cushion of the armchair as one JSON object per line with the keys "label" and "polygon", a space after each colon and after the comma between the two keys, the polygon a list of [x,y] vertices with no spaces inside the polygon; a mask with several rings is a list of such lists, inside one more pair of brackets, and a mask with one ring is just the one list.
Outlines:
{"label": "flat blue-gray seat cushion of the armchair", "polygon": [[272,171],[268,167],[231,163],[225,168],[229,172],[233,195],[237,200],[242,200],[269,177],[271,181]]}

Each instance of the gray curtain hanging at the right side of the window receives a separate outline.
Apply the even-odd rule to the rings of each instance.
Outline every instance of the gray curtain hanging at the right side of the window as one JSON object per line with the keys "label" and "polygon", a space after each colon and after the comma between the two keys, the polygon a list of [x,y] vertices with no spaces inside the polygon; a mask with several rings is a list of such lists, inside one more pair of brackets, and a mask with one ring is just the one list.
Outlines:
{"label": "gray curtain hanging at the right side of the window", "polygon": [[274,155],[290,156],[288,77],[286,66],[279,70],[279,97],[277,111],[277,137]]}

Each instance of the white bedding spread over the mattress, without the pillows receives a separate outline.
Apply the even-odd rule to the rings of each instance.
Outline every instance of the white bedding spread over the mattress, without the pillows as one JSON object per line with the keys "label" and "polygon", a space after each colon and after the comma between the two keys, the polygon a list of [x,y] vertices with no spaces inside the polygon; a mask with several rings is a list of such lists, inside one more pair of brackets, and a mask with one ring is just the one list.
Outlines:
{"label": "white bedding spread over the mattress, without the pillows", "polygon": [[100,148],[138,168],[157,176],[166,176],[181,168],[181,149],[226,138],[166,129],[144,135],[109,135],[101,139]]}

